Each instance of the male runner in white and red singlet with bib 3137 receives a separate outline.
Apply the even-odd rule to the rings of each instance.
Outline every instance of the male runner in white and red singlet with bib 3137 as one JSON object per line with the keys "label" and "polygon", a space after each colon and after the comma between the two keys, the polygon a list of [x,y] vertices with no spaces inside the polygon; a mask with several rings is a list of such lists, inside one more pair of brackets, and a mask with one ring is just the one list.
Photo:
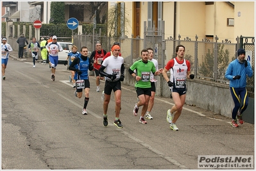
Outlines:
{"label": "male runner in white and red singlet with bib 3137", "polygon": [[[186,97],[186,79],[194,79],[194,74],[191,74],[190,71],[190,61],[184,59],[185,47],[183,45],[177,45],[176,49],[176,58],[169,60],[164,67],[162,72],[164,79],[166,79],[167,84],[173,88],[171,89],[173,101],[175,105],[171,110],[167,110],[166,120],[170,124],[170,128],[173,131],[178,131],[176,126],[176,121],[182,114],[182,108],[185,104]],[[167,76],[167,71],[172,70],[170,73],[170,78]]]}

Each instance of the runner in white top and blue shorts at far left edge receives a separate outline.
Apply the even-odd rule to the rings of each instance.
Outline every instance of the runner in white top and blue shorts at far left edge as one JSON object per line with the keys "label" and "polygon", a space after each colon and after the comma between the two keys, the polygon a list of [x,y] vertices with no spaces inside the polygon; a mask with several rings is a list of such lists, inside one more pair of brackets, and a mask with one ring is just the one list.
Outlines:
{"label": "runner in white top and blue shorts at far left edge", "polygon": [[2,64],[2,76],[3,80],[5,80],[5,69],[7,67],[8,59],[9,59],[9,53],[12,52],[12,47],[6,43],[7,39],[2,38],[2,44],[1,44],[1,64]]}

